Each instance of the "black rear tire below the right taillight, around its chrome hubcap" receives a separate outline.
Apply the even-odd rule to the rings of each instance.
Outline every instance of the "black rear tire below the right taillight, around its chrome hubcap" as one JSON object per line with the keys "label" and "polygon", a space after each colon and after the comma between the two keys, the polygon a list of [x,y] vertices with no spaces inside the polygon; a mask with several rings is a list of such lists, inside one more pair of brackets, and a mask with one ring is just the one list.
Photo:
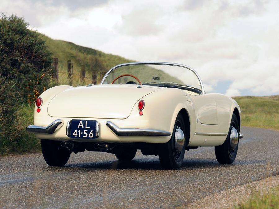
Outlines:
{"label": "black rear tire below the right taillight, around its chrome hubcap", "polygon": [[186,136],[185,134],[185,126],[184,126],[184,119],[181,114],[177,115],[176,120],[175,120],[175,125],[173,128],[172,136],[170,138],[170,141],[162,144],[159,148],[159,159],[160,163],[163,168],[165,169],[178,169],[183,163],[184,159],[184,154],[185,154],[185,141],[184,141],[184,146],[180,152],[177,152],[175,150],[175,130],[176,128],[179,127],[182,129],[184,133],[184,137]]}

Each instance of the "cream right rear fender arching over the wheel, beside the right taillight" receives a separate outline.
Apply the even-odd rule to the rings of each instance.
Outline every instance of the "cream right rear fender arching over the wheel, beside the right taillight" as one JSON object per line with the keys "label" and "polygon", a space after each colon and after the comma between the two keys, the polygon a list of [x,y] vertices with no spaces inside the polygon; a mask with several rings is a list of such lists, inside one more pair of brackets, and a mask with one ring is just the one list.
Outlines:
{"label": "cream right rear fender arching over the wheel, beside the right taillight", "polygon": [[[143,115],[139,115],[139,109],[137,107],[140,100],[144,100],[145,106],[143,109]],[[131,121],[129,127],[140,127],[140,128],[155,128],[160,130],[173,132],[175,119],[180,110],[184,109],[187,111],[189,118],[195,118],[195,111],[193,102],[181,89],[168,88],[157,90],[151,94],[144,96],[136,102],[130,116],[126,119]],[[193,135],[195,128],[195,120],[190,120],[190,140]],[[170,137],[166,137],[168,142]]]}

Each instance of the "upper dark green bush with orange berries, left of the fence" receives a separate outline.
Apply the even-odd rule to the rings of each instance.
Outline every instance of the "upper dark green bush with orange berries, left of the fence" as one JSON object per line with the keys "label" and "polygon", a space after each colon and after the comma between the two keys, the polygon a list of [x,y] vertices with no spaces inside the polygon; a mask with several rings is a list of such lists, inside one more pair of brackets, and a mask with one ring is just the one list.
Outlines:
{"label": "upper dark green bush with orange berries, left of the fence", "polygon": [[0,18],[0,77],[14,81],[21,98],[33,104],[49,86],[51,52],[39,33],[16,15]]}

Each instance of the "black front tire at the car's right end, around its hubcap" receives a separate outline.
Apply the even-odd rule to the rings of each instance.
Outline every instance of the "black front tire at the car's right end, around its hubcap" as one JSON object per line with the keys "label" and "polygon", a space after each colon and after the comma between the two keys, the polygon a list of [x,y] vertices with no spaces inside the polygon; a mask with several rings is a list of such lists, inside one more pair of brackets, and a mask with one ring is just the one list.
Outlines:
{"label": "black front tire at the car's right end, around its hubcap", "polygon": [[231,125],[225,142],[220,146],[215,146],[215,156],[220,164],[232,164],[236,158],[238,143],[234,150],[231,149],[230,145],[230,133],[233,127],[237,129],[237,133],[239,134],[238,120],[234,113],[232,114]]}

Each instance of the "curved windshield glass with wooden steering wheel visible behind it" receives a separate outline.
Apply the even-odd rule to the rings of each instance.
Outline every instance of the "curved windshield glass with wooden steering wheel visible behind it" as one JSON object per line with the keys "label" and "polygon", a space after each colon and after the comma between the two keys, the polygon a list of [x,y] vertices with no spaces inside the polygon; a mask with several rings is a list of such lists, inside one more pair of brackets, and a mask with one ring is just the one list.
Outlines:
{"label": "curved windshield glass with wooden steering wheel visible behind it", "polygon": [[[138,78],[142,85],[189,87],[189,89],[202,91],[199,78],[191,69],[157,63],[123,65],[114,68],[103,84],[111,84],[118,76],[126,74]],[[119,77],[113,84],[139,84],[139,81],[132,76]]]}

